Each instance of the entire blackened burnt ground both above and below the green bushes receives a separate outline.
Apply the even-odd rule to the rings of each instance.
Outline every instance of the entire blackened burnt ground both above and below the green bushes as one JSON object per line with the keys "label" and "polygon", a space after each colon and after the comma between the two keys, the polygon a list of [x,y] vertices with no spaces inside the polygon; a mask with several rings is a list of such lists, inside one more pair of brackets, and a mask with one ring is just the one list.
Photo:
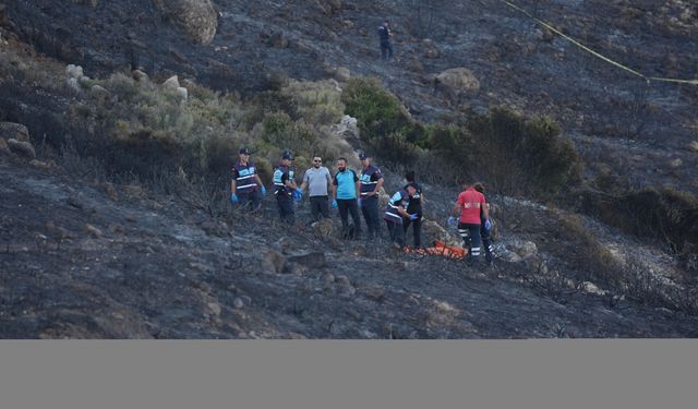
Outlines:
{"label": "entire blackened burnt ground both above and below the green bushes", "polygon": [[[490,104],[551,113],[577,142],[590,177],[694,190],[690,86],[638,86],[500,1],[218,0],[191,25],[181,9],[188,3],[0,5],[0,47],[25,49],[0,68],[36,68],[0,77],[0,121],[28,128],[0,122],[1,338],[698,336],[696,278],[655,246],[587,217],[492,197],[502,210],[501,258],[493,268],[468,268],[385,242],[341,242],[334,226],[310,226],[305,207],[299,225],[284,230],[269,199],[262,213],[234,217],[225,200],[188,191],[184,179],[171,184],[189,188],[168,194],[112,184],[99,166],[71,167],[49,147],[67,139],[57,130],[77,93],[103,97],[81,84],[89,91],[64,93],[69,62],[92,77],[141,68],[155,80],[178,74],[243,96],[286,75],[332,76],[338,86],[349,75],[377,75],[417,118]],[[643,72],[695,74],[695,56],[681,53],[696,46],[694,5],[521,4]],[[384,16],[396,32],[389,63],[376,59],[373,32]],[[60,82],[56,89],[50,79]],[[386,175],[392,191],[400,180]],[[443,219],[455,192],[425,188],[428,216]],[[425,240],[441,234],[433,224]],[[617,260],[637,275],[628,281],[637,288],[599,275],[610,265],[590,256],[599,249],[607,250],[605,263]],[[634,297],[646,287],[654,298]]]}

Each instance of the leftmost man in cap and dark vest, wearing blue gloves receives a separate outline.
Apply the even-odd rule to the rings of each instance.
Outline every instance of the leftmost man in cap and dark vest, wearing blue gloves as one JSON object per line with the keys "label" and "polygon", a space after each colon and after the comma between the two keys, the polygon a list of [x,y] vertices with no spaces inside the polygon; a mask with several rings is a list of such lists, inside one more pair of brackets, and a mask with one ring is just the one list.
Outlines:
{"label": "leftmost man in cap and dark vest, wearing blue gloves", "polygon": [[[230,203],[239,203],[240,207],[254,212],[260,208],[261,197],[266,195],[266,188],[257,175],[252,160],[250,149],[240,149],[240,159],[232,167],[232,180],[230,181]],[[250,207],[250,204],[252,206]]]}

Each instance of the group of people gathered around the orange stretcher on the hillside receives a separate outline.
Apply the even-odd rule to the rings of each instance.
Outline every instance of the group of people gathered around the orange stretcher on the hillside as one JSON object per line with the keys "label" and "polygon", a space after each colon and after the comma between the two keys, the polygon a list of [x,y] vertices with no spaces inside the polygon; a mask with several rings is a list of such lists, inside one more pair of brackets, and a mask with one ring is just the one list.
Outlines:
{"label": "group of people gathered around the orange stretcher on the hillside", "polygon": [[[232,167],[230,184],[230,202],[239,208],[256,210],[261,206],[262,196],[266,195],[266,188],[260,179],[257,169],[250,160],[251,152],[240,149],[240,158]],[[304,192],[310,197],[310,208],[314,220],[329,218],[329,207],[338,209],[345,236],[359,238],[362,234],[361,216],[366,227],[366,239],[381,237],[381,210],[378,196],[384,184],[381,169],[372,165],[372,158],[365,153],[359,155],[362,169],[360,173],[348,167],[347,158],[337,160],[337,172],[333,176],[321,156],[314,156],[300,185],[296,180],[293,154],[285,151],[279,165],[274,170],[273,183],[279,217],[282,221],[294,224],[294,203],[300,203]],[[406,245],[406,233],[412,226],[414,246],[420,248],[422,205],[424,195],[417,183],[414,172],[405,175],[406,184],[390,199],[383,212],[383,220],[389,232],[390,240],[396,248]],[[490,238],[489,205],[484,197],[484,185],[476,183],[464,185],[464,191],[453,209],[453,215],[459,214],[458,231],[465,245],[469,249],[469,261],[479,258],[484,246],[485,260],[492,261],[493,249]],[[359,212],[361,209],[361,212]],[[360,216],[361,213],[361,216]],[[349,216],[351,215],[351,222]],[[456,224],[452,216],[448,225]]]}

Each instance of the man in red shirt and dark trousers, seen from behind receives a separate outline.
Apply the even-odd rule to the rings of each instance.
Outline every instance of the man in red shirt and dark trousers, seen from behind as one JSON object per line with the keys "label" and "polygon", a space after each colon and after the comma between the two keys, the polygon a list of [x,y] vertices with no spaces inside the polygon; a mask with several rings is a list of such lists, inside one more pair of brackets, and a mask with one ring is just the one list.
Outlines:
{"label": "man in red shirt and dark trousers, seen from behind", "polygon": [[[482,212],[484,218],[484,228],[488,230],[492,226],[490,212],[484,195],[471,185],[464,185],[464,191],[458,195],[452,214],[457,215],[458,210],[460,210],[458,232],[468,248],[467,260],[471,264],[480,257],[480,212]],[[455,222],[455,218],[453,216],[449,217],[448,222]]]}

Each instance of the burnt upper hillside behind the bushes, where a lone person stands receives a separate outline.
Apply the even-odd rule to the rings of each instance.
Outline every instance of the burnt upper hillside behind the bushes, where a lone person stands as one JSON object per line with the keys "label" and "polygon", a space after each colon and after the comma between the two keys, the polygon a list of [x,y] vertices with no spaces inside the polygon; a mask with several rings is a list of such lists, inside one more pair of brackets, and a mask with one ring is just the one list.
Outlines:
{"label": "burnt upper hillside behind the bushes, where a lone person stands", "polygon": [[[590,177],[698,191],[695,85],[648,85],[500,0],[218,0],[217,16],[208,11],[205,23],[182,27],[186,3],[32,0],[9,3],[5,14],[14,35],[92,76],[132,65],[251,93],[278,75],[341,79],[347,71],[337,68],[346,68],[381,77],[426,121],[492,104],[552,115],[577,142]],[[698,10],[690,2],[515,3],[647,75],[698,76],[689,52],[698,47]],[[396,34],[389,63],[377,59],[374,31],[383,17]],[[213,27],[213,38],[203,34]],[[435,92],[434,77],[453,68],[470,70],[478,86],[457,98]]]}

